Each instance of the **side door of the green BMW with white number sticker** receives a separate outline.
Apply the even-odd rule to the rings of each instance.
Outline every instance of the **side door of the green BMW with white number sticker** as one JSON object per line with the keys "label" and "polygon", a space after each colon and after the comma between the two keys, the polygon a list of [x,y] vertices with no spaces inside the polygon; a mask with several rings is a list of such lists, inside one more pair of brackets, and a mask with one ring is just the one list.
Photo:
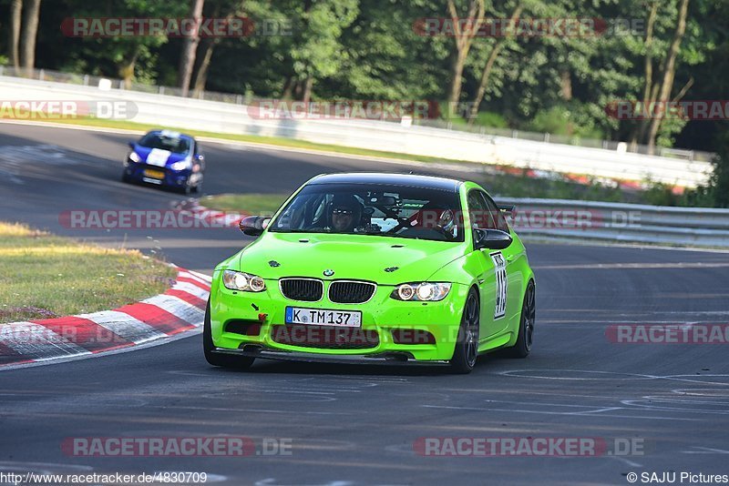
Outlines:
{"label": "side door of the green BMW with white number sticker", "polygon": [[[471,221],[471,230],[495,228],[492,215],[488,213],[488,206],[484,194],[478,189],[468,191],[468,216]],[[477,261],[478,294],[481,300],[481,319],[479,340],[483,341],[504,329],[501,320],[503,315],[499,308],[503,305],[503,286],[506,278],[503,272],[504,260],[497,255],[500,252],[488,248],[475,249]]]}

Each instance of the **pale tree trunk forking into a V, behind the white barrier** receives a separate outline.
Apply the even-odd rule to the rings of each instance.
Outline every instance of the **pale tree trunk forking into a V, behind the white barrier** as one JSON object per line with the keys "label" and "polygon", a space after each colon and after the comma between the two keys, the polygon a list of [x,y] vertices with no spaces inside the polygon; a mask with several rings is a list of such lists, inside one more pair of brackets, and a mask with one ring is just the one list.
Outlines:
{"label": "pale tree trunk forking into a V, behind the white barrier", "polygon": [[451,17],[449,20],[454,23],[453,32],[456,38],[456,52],[454,53],[450,67],[451,75],[447,100],[449,103],[448,112],[451,113],[461,97],[463,68],[466,66],[468,51],[471,48],[471,44],[473,44],[474,36],[484,21],[484,0],[471,0],[466,17],[469,22],[467,23],[468,25],[464,25],[465,28],[463,29],[461,29],[461,25],[458,24],[460,17],[456,10],[454,0],[448,0],[448,14]]}

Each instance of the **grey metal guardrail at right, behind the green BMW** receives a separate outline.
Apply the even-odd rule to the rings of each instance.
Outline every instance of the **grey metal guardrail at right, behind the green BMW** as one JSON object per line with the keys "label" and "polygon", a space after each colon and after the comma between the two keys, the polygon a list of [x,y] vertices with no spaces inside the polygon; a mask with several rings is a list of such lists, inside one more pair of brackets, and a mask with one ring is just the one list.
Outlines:
{"label": "grey metal guardrail at right, behind the green BMW", "polygon": [[527,238],[729,248],[729,209],[498,197]]}

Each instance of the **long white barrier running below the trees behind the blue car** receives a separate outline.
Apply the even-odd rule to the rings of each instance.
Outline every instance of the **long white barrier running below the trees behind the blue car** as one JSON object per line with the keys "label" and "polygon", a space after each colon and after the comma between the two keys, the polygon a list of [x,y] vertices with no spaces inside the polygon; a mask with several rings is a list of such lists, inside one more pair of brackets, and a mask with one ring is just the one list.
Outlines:
{"label": "long white barrier running below the trees behind the blue car", "polygon": [[256,119],[246,106],[178,96],[101,90],[0,76],[2,100],[118,100],[136,104],[131,121],[210,132],[287,137],[419,156],[590,174],[631,181],[651,179],[682,187],[706,182],[711,164],[614,150],[495,137],[434,127],[402,127],[375,120]]}

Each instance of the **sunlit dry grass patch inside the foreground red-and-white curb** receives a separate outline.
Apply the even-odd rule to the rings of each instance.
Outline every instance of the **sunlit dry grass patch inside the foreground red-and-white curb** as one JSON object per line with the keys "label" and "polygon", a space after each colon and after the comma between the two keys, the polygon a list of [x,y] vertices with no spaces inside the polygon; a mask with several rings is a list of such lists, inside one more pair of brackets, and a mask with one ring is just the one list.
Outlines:
{"label": "sunlit dry grass patch inside the foreground red-and-white curb", "polygon": [[0,323],[115,309],[164,292],[175,275],[137,250],[0,221]]}

